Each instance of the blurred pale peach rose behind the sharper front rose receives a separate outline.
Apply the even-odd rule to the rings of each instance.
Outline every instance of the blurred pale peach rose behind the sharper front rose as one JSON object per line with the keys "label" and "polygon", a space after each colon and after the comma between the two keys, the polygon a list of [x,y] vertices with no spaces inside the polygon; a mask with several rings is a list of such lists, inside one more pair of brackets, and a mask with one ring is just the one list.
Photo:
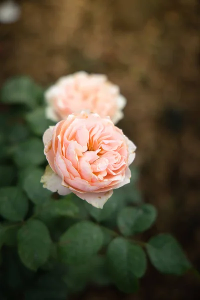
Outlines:
{"label": "blurred pale peach rose behind the sharper front rose", "polygon": [[87,110],[100,116],[110,116],[113,123],[122,117],[126,99],[120,95],[117,85],[101,74],[80,71],[61,77],[45,92],[46,117],[60,121],[73,112]]}

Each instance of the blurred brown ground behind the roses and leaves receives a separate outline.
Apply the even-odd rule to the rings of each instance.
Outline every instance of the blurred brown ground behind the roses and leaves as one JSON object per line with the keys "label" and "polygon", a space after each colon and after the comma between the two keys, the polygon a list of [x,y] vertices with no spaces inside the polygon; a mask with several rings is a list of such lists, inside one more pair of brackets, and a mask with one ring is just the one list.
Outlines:
{"label": "blurred brown ground behind the roses and leaves", "polygon": [[[46,85],[78,70],[106,73],[127,98],[118,124],[137,145],[146,201],[200,268],[200,1],[19,0],[0,25],[0,83],[29,74]],[[144,239],[148,236],[144,236]],[[136,295],[88,287],[78,299],[199,299],[193,274],[149,267]]]}

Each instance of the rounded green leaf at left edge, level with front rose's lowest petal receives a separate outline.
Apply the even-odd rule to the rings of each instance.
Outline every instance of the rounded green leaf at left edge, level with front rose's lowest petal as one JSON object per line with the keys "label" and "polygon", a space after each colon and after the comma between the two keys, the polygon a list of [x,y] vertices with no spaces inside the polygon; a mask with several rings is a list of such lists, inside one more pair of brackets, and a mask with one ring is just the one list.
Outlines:
{"label": "rounded green leaf at left edge, level with front rose's lowest petal", "polygon": [[28,200],[18,187],[0,188],[0,214],[10,221],[21,221],[28,210]]}

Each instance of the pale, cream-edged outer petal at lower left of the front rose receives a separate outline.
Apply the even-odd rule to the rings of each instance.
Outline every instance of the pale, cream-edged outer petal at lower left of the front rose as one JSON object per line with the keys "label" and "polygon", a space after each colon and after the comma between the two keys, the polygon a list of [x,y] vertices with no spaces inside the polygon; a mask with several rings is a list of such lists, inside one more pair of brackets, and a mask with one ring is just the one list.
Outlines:
{"label": "pale, cream-edged outer petal at lower left of the front rose", "polygon": [[40,182],[43,183],[43,187],[46,187],[53,192],[57,191],[60,195],[67,195],[71,192],[69,188],[61,185],[62,179],[53,172],[49,165],[46,166]]}

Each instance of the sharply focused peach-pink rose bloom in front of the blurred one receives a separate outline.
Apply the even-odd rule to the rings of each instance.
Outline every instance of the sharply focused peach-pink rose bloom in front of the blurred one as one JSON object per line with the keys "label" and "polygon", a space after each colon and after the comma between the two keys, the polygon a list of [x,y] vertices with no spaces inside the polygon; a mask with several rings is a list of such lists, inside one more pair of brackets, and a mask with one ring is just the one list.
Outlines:
{"label": "sharply focused peach-pink rose bloom in front of the blurred one", "polygon": [[41,182],[51,191],[102,208],[114,188],[130,182],[136,147],[109,117],[70,114],[44,132],[43,142],[49,165]]}

